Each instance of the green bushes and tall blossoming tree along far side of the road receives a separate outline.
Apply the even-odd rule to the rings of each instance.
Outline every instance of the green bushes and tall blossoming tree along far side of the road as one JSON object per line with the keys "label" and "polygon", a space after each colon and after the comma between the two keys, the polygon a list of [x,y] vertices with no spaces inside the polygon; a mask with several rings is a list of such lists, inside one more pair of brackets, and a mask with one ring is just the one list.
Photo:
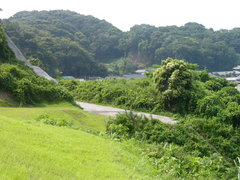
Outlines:
{"label": "green bushes and tall blossoming tree along far side of the road", "polygon": [[[239,103],[239,92],[234,83],[210,77],[207,71],[197,71],[196,68],[196,65],[184,61],[167,59],[144,79],[61,80],[60,84],[81,101],[147,112],[170,111],[205,116],[210,114],[211,107],[217,106],[220,111],[226,108],[227,102]],[[214,102],[209,107],[206,101],[213,95],[219,103]]]}

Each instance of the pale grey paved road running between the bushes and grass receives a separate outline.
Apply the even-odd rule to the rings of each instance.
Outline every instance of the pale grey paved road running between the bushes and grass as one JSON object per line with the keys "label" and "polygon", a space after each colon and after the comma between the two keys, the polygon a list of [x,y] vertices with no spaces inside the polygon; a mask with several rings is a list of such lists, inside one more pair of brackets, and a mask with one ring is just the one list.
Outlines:
{"label": "pale grey paved road running between the bushes and grass", "polygon": [[[76,102],[78,105],[80,105],[84,111],[90,112],[90,113],[96,113],[96,114],[101,114],[101,115],[106,115],[106,116],[116,116],[119,113],[124,113],[125,111],[130,112],[129,110],[124,110],[124,109],[119,109],[119,108],[113,108],[109,106],[101,106],[101,105],[96,105],[96,104],[90,104],[90,103],[85,103],[85,102]],[[154,115],[154,114],[149,114],[149,113],[143,113],[143,112],[133,112],[134,114],[138,115],[144,115],[148,118],[154,118],[154,119],[159,119],[160,121],[167,123],[167,124],[175,124],[177,121],[171,119],[170,117],[167,116],[160,116],[160,115]]]}

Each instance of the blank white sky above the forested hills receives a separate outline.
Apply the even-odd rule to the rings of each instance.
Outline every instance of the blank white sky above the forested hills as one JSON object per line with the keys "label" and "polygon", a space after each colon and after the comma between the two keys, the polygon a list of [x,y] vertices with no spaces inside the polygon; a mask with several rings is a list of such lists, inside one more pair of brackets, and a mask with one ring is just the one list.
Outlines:
{"label": "blank white sky above the forested hills", "polygon": [[240,27],[240,0],[2,0],[0,18],[23,10],[64,9],[105,19],[123,31],[197,22],[207,28]]}

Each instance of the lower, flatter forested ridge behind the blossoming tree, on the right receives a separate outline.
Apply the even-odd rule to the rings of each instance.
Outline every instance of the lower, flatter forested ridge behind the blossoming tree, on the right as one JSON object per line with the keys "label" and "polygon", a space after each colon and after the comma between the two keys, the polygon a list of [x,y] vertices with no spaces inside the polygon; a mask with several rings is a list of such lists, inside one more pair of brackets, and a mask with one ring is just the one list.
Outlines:
{"label": "lower, flatter forested ridge behind the blossoming tree, on the right", "polygon": [[197,23],[154,27],[136,25],[120,47],[139,62],[160,64],[168,57],[196,63],[209,71],[230,70],[239,63],[240,29],[213,31]]}

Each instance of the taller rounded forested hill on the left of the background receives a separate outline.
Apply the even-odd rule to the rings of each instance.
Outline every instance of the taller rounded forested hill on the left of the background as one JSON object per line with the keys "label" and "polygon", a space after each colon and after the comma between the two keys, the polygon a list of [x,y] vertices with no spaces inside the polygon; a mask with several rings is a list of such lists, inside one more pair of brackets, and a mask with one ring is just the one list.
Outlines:
{"label": "taller rounded forested hill on the left of the background", "polygon": [[27,57],[39,58],[54,75],[105,76],[99,63],[121,56],[121,31],[106,21],[70,11],[20,12],[5,21]]}

